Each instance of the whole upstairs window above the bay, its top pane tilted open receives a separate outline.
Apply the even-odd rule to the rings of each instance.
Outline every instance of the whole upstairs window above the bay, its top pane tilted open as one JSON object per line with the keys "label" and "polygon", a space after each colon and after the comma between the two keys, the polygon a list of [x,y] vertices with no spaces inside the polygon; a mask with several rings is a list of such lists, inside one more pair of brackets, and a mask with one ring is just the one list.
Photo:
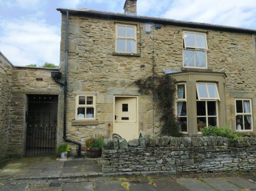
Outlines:
{"label": "whole upstairs window above the bay, its top pane tilted open", "polygon": [[207,39],[204,33],[183,32],[183,66],[207,68]]}

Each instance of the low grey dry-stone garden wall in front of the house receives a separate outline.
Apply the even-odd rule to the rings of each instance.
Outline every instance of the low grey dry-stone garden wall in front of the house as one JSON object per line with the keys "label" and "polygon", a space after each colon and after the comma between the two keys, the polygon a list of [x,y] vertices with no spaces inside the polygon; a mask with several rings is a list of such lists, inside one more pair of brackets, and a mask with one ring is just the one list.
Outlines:
{"label": "low grey dry-stone garden wall in front of the house", "polygon": [[236,172],[256,170],[256,138],[160,137],[105,140],[102,172]]}

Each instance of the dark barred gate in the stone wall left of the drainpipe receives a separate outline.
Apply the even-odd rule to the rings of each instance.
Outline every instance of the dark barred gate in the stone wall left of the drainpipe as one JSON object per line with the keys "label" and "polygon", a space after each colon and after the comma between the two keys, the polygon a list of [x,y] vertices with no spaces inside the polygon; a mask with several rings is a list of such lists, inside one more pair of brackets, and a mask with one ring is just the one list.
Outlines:
{"label": "dark barred gate in the stone wall left of the drainpipe", "polygon": [[28,95],[26,155],[55,153],[56,95]]}

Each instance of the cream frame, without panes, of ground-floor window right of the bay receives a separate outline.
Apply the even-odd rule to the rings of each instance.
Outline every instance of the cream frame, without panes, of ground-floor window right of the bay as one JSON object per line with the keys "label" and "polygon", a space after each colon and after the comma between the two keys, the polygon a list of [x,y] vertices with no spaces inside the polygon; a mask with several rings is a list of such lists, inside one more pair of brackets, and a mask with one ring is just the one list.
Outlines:
{"label": "cream frame, without panes, of ground-floor window right of the bay", "polygon": [[[243,101],[250,101],[250,113],[237,113],[237,101],[242,101],[242,109],[243,109]],[[251,103],[251,99],[235,99],[235,124],[236,124],[236,131],[238,132],[246,132],[246,131],[253,131],[253,105]],[[244,111],[244,109],[243,109]],[[251,116],[251,129],[245,129],[245,116]],[[237,130],[237,122],[236,122],[236,117],[237,116],[243,116],[243,130]]]}

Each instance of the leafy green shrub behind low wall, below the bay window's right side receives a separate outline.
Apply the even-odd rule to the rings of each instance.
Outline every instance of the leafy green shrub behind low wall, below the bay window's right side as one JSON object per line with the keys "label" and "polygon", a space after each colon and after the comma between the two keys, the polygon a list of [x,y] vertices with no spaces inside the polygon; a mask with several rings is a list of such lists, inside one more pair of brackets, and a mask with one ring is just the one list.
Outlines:
{"label": "leafy green shrub behind low wall, below the bay window's right side", "polygon": [[204,136],[220,136],[227,137],[230,142],[237,141],[237,133],[228,127],[218,128],[217,126],[209,126],[208,128],[201,129]]}

